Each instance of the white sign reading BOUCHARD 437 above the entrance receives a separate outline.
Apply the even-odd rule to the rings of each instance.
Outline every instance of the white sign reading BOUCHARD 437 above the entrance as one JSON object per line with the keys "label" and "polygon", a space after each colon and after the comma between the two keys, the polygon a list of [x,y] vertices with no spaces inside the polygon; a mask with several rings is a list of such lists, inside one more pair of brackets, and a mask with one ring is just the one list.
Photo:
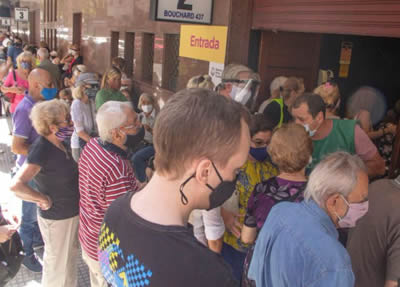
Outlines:
{"label": "white sign reading BOUCHARD 437 above the entrance", "polygon": [[213,0],[152,0],[151,16],[156,21],[211,24]]}

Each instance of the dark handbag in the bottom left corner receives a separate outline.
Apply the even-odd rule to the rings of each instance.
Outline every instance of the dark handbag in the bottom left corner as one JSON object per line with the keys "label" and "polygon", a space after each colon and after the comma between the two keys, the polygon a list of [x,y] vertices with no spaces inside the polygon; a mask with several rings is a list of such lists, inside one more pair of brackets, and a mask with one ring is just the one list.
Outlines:
{"label": "dark handbag in the bottom left corner", "polygon": [[[0,225],[7,224],[9,222],[0,212]],[[24,249],[18,232],[15,232],[8,241],[0,243],[0,286],[4,286],[17,275],[24,257]]]}

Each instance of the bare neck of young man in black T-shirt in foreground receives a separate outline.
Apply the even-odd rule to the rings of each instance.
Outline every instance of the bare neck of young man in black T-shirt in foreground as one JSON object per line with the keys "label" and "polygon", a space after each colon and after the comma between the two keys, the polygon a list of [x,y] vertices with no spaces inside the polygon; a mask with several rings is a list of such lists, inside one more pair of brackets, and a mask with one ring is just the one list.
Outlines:
{"label": "bare neck of young man in black T-shirt in foreground", "polygon": [[193,208],[189,189],[184,190],[189,198],[188,205],[183,205],[181,202],[179,188],[182,182],[182,180],[168,180],[156,172],[146,187],[133,196],[132,210],[153,223],[186,226]]}

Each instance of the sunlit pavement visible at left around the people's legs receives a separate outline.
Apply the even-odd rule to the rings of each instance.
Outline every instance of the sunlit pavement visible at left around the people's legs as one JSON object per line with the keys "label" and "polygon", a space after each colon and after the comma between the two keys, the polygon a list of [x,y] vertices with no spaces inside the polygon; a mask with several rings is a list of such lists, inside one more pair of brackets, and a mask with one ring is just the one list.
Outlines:
{"label": "sunlit pavement visible at left around the people's legs", "polygon": [[[11,153],[11,136],[9,134],[5,117],[0,117],[0,204],[2,209],[9,210],[12,214],[21,215],[21,200],[16,198],[9,190],[11,183],[10,171],[15,166],[15,158]],[[37,255],[43,258],[44,249],[36,250]],[[34,273],[25,266],[21,266],[17,276],[7,283],[5,287],[41,287],[41,273]],[[89,287],[90,278],[86,264],[82,257],[78,258],[78,287]]]}

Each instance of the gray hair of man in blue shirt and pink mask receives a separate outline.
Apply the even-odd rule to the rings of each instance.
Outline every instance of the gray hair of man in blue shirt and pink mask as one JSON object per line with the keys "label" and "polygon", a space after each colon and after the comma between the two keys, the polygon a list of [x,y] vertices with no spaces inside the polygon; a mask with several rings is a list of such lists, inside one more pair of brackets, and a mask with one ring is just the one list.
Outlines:
{"label": "gray hair of man in blue shirt and pink mask", "polygon": [[359,156],[343,151],[332,153],[311,172],[304,198],[313,199],[323,207],[332,194],[347,197],[357,185],[360,172],[366,173],[367,169]]}

